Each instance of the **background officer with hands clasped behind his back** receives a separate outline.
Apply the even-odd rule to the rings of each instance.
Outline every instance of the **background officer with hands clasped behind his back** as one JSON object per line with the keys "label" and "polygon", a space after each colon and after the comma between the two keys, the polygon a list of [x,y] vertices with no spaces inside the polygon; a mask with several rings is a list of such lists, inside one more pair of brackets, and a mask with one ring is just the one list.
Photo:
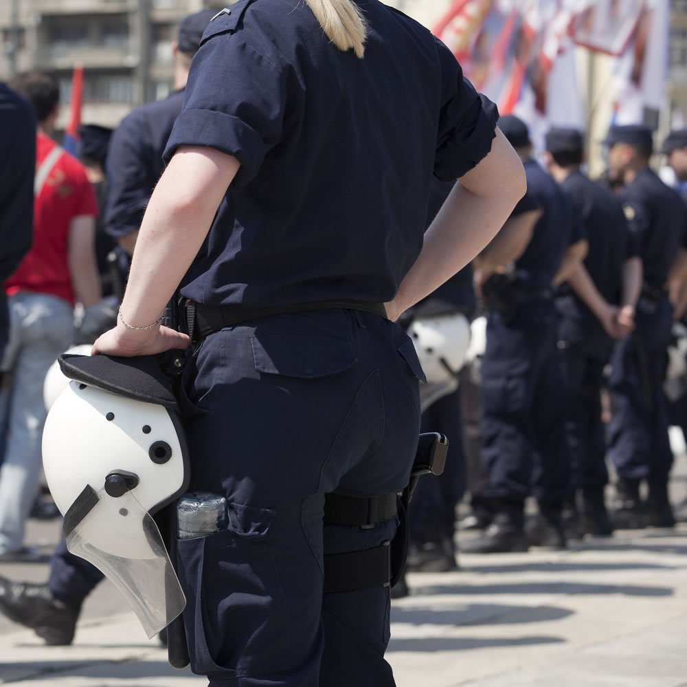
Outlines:
{"label": "background officer with hands clasped behind his back", "polygon": [[589,251],[556,294],[561,315],[559,348],[567,370],[570,414],[565,425],[571,459],[572,514],[579,499],[578,534],[613,531],[604,499],[608,484],[605,427],[601,418],[603,370],[613,343],[634,328],[642,288],[642,261],[620,201],[581,171],[583,135],[552,128],[545,137],[548,172],[574,200]]}

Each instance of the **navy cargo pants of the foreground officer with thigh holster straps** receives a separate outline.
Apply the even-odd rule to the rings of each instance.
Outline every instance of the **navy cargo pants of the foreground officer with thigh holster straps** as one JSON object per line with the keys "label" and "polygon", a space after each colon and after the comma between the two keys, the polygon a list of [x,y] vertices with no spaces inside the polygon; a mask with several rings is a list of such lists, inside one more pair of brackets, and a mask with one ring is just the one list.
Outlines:
{"label": "navy cargo pants of the foreground officer with thigh holster straps", "polygon": [[391,687],[390,589],[323,593],[323,556],[392,539],[323,524],[324,495],[409,480],[423,372],[400,326],[330,310],[207,337],[183,373],[190,491],[224,495],[226,530],[179,541],[194,673],[210,686]]}

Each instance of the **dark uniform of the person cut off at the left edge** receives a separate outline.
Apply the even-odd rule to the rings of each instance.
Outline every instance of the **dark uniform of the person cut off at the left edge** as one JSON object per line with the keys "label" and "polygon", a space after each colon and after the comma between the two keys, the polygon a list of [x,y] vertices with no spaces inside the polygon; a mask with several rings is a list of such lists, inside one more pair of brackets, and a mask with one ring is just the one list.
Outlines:
{"label": "dark uniform of the person cut off at the left edge", "polygon": [[[36,168],[36,115],[30,103],[0,83],[0,278],[10,278],[31,247]],[[10,330],[5,292],[0,289],[0,352]]]}

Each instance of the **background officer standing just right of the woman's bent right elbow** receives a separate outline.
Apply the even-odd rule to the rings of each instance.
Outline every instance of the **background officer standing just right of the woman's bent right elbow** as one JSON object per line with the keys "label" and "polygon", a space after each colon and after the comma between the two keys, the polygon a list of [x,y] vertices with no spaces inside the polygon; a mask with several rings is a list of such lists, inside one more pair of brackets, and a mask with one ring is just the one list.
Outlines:
{"label": "background officer standing just right of the woman's bent right elbow", "polygon": [[[553,289],[586,250],[572,199],[531,157],[526,124],[507,115],[500,126],[523,160],[530,205],[521,201],[475,260],[475,286],[489,308],[481,368],[482,460],[489,480],[486,496],[495,512],[481,537],[461,545],[475,553],[525,551],[530,543],[565,546],[567,398]],[[495,265],[512,260],[510,274],[492,274]],[[539,516],[526,534],[524,505],[530,493],[537,498]]]}

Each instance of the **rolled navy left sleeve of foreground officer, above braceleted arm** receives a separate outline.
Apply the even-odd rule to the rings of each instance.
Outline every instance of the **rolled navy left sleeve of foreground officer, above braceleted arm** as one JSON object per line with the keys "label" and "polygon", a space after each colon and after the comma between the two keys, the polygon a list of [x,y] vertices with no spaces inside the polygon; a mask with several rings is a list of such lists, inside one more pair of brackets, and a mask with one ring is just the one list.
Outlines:
{"label": "rolled navy left sleeve of foreground officer, above braceleted arm", "polygon": [[183,111],[164,159],[179,146],[207,146],[240,163],[243,188],[282,133],[286,74],[238,34],[210,34],[193,58]]}

